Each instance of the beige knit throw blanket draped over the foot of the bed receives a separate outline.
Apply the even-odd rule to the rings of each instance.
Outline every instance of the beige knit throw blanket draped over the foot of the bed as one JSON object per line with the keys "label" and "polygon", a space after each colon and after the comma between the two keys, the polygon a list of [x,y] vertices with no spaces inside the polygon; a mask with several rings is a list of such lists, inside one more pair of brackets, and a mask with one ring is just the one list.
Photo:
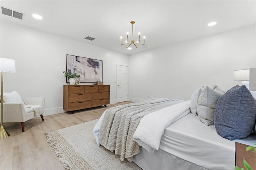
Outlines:
{"label": "beige knit throw blanket draped over the foot of the bed", "polygon": [[106,149],[132,162],[133,156],[140,152],[139,145],[133,140],[133,134],[145,115],[164,107],[184,102],[177,99],[156,98],[106,110],[99,132],[99,142]]}

